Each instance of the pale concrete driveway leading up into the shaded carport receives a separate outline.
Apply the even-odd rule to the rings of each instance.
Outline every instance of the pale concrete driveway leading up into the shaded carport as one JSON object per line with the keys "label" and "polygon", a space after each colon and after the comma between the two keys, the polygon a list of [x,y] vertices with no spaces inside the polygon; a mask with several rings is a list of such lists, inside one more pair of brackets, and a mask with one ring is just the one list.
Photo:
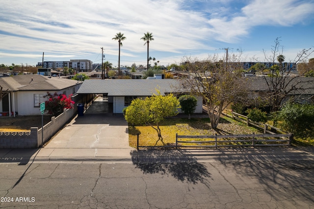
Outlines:
{"label": "pale concrete driveway leading up into the shaded carport", "polygon": [[131,149],[128,124],[122,114],[112,114],[107,102],[95,101],[84,116],[76,116],[45,148]]}

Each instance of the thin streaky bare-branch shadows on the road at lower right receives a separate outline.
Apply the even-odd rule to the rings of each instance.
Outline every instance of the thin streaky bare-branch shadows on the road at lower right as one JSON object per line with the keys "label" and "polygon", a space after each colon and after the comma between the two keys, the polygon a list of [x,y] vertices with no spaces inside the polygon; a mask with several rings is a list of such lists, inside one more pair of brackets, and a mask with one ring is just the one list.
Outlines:
{"label": "thin streaky bare-branch shadows on the road at lower right", "polygon": [[[252,160],[228,162],[221,157],[221,163],[225,166],[226,173],[235,172],[239,176],[249,176],[256,179],[265,188],[274,200],[302,200],[303,202],[314,202],[312,160],[307,156],[295,160],[281,160],[280,155],[274,155],[278,160]],[[218,157],[219,158],[219,157]],[[299,202],[297,203],[299,204]]]}

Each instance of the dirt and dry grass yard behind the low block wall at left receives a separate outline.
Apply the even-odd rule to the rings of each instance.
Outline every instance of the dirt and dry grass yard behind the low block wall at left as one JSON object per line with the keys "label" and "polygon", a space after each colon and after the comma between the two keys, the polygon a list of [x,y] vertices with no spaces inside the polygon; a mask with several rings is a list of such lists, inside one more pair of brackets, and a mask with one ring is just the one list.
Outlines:
{"label": "dirt and dry grass yard behind the low block wall at left", "polygon": [[[51,115],[44,115],[44,125],[51,121],[51,117]],[[31,127],[41,128],[41,126],[41,115],[0,117],[0,131],[30,131]]]}

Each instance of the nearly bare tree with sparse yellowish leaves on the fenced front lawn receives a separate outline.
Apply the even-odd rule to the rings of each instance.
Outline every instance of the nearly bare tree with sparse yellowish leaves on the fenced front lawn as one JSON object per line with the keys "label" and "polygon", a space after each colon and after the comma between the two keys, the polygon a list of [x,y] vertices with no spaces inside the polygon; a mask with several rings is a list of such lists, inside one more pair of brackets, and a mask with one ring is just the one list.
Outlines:
{"label": "nearly bare tree with sparse yellowish leaves on the fenced front lawn", "polygon": [[227,69],[217,58],[214,55],[206,60],[187,59],[185,70],[190,78],[183,81],[183,86],[191,93],[202,96],[213,129],[217,128],[220,115],[228,104],[247,99],[245,78],[240,72],[240,54],[230,55],[229,60],[234,62],[229,62]]}

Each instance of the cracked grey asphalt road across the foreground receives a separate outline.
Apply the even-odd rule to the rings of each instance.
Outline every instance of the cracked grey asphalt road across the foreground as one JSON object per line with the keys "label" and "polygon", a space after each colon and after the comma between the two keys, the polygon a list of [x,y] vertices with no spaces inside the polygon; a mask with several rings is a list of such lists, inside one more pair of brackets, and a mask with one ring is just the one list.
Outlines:
{"label": "cracked grey asphalt road across the foreground", "polygon": [[2,163],[0,208],[311,209],[313,162]]}

